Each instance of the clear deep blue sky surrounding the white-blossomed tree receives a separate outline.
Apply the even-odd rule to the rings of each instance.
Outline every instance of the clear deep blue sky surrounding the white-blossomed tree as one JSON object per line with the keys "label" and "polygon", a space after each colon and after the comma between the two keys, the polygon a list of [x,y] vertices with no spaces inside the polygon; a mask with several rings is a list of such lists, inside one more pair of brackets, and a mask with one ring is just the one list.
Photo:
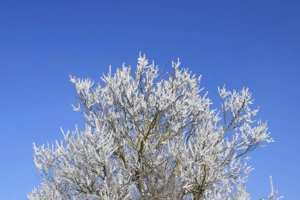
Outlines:
{"label": "clear deep blue sky surrounding the white-blossomed tree", "polygon": [[38,181],[37,145],[81,123],[68,74],[136,65],[139,51],[170,69],[172,59],[217,86],[249,87],[275,142],[251,154],[247,189],[268,195],[269,174],[284,199],[298,199],[300,1],[0,2],[0,199],[25,199]]}

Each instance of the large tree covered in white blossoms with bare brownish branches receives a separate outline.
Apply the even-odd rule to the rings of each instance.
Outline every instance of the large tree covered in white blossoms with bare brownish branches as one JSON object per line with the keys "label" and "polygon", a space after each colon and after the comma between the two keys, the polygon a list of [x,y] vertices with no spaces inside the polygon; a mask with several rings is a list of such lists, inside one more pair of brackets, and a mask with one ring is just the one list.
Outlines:
{"label": "large tree covered in white blossoms with bare brownish branches", "polygon": [[[70,81],[85,129],[36,147],[41,183],[29,199],[250,199],[244,183],[248,153],[272,142],[267,122],[248,88],[218,88],[221,109],[200,95],[200,77],[172,62],[158,74],[139,55],[134,72],[124,64],[101,77]],[[55,146],[55,147],[54,147]],[[269,195],[269,198],[274,195]]]}

